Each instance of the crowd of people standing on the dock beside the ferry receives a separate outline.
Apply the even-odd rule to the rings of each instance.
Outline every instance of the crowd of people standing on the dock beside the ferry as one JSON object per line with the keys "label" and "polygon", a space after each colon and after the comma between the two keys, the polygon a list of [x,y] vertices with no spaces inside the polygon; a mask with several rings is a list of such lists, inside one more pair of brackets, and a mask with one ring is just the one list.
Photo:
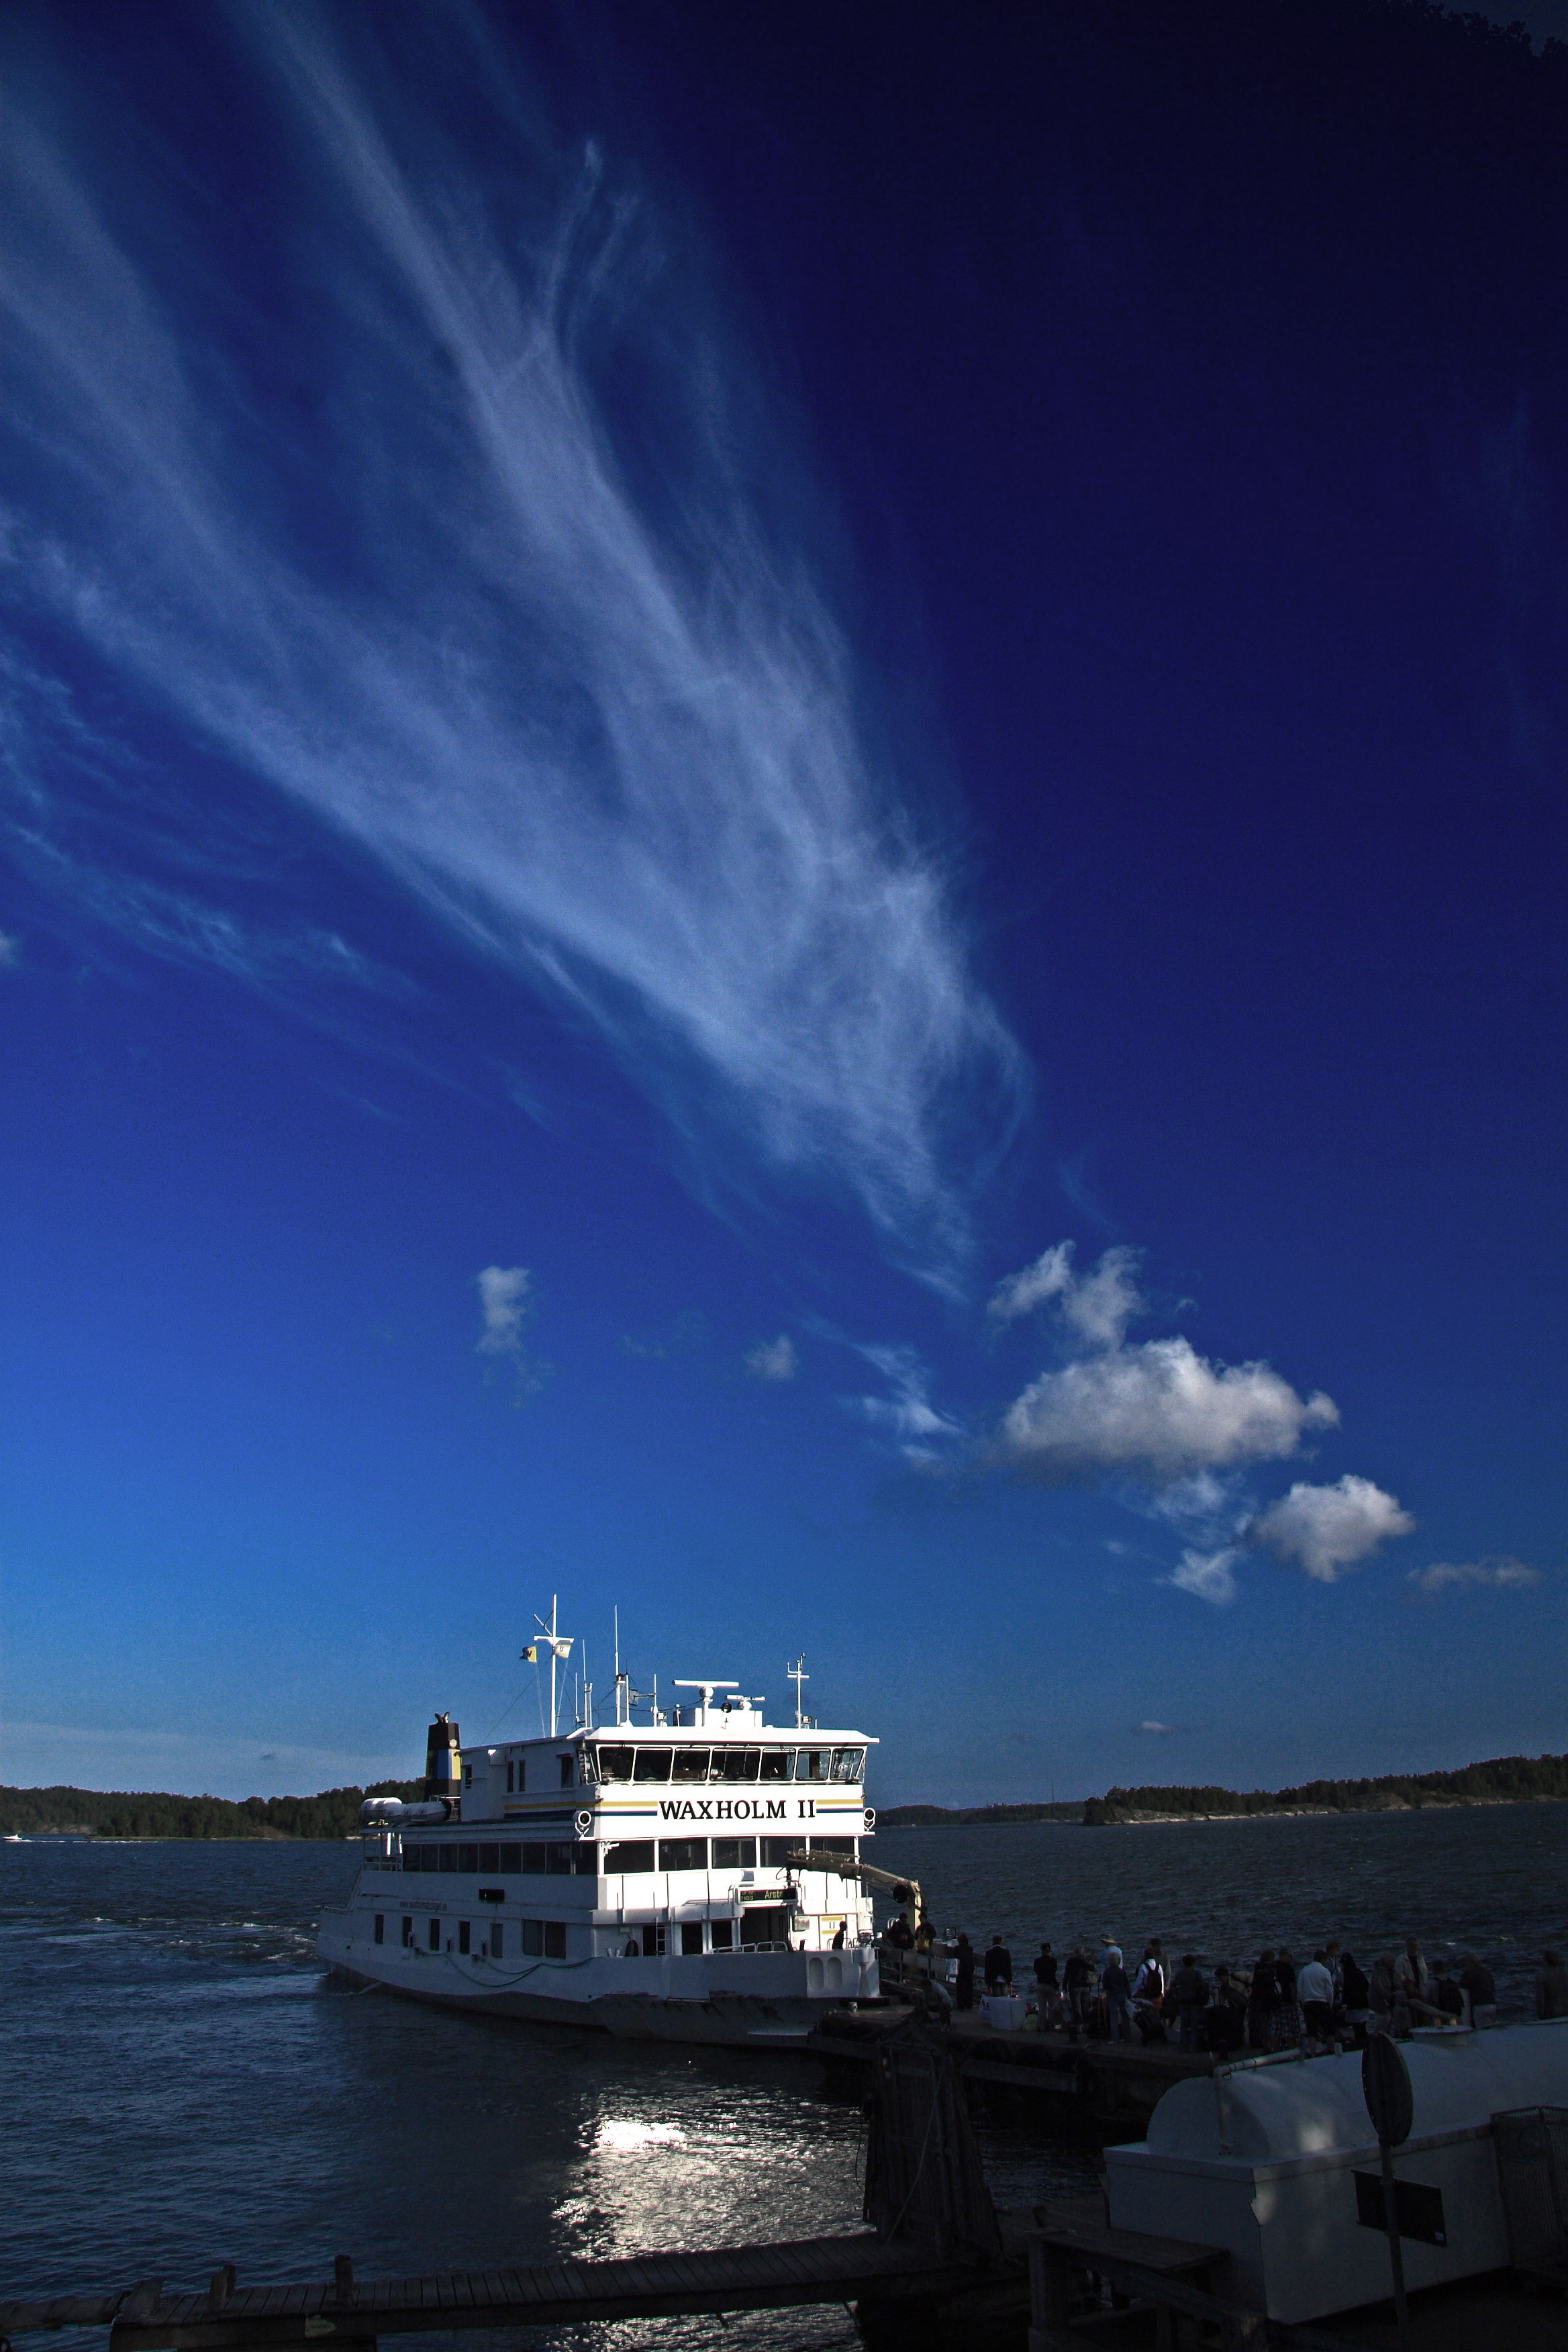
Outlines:
{"label": "crowd of people standing on the dock beside the ferry", "polygon": [[[891,1947],[912,1950],[917,1966],[924,1957],[931,1978],[947,1980],[954,2009],[976,2006],[976,1985],[992,1997],[1023,1992],[1041,2032],[1072,2042],[1175,2042],[1218,2056],[1300,2049],[1316,2058],[1366,2049],[1368,2034],[1403,2039],[1415,2027],[1497,2020],[1497,1983],[1486,1962],[1467,1952],[1455,1973],[1443,1959],[1427,1962],[1415,1936],[1403,1950],[1378,1952],[1371,1966],[1328,1938],[1302,1962],[1286,1945],[1267,1945],[1251,1969],[1220,1964],[1208,1973],[1194,1952],[1171,1966],[1159,1936],[1128,1966],[1121,1943],[1105,1933],[1093,1959],[1081,1943],[1060,1957],[1041,1943],[1034,1962],[1016,1971],[1001,1936],[978,1955],[969,1936],[938,1943],[924,1912],[917,1931],[907,1922],[898,1929]],[[1568,2018],[1568,1966],[1552,1950],[1535,1978],[1535,2013]]]}

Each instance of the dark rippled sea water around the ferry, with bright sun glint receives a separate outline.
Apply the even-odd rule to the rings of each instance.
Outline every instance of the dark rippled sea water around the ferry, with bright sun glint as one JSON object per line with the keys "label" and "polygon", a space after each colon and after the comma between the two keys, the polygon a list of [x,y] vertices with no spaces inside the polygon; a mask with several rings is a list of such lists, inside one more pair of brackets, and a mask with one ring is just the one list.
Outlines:
{"label": "dark rippled sea water around the ferry, with bright sun glint", "polygon": [[[1023,1969],[1105,1933],[1206,1964],[1324,1936],[1481,1950],[1530,2006],[1563,1938],[1568,1806],[1182,1828],[889,1830],[938,1926]],[[475,2270],[851,2230],[863,2117],[818,2067],[449,2016],[315,1962],[357,1844],[0,1844],[0,2296]],[[1004,2204],[1093,2187],[1046,2117],[983,2122]],[[583,2333],[583,2331],[578,2331]],[[842,2312],[656,2321],[583,2343],[851,2340]],[[541,2343],[538,2336],[520,2338]],[[71,2338],[56,2340],[71,2352]],[[82,2336],[82,2347],[103,2338]]]}

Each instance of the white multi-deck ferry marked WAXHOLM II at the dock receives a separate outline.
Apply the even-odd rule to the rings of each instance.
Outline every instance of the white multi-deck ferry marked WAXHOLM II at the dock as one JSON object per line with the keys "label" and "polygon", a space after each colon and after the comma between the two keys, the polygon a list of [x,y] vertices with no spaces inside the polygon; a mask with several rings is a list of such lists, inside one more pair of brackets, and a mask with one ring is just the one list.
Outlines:
{"label": "white multi-deck ferry marked WAXHOLM II at the dock", "polygon": [[661,2042],[788,2042],[872,1999],[875,1740],[811,1724],[799,1668],[792,1726],[733,1682],[677,1682],[696,1698],[639,1724],[616,1672],[616,1722],[595,1726],[588,1696],[559,1731],[569,1646],[552,1606],[548,1733],[463,1750],[437,1715],[423,1802],[364,1802],[320,1959],[421,2002]]}

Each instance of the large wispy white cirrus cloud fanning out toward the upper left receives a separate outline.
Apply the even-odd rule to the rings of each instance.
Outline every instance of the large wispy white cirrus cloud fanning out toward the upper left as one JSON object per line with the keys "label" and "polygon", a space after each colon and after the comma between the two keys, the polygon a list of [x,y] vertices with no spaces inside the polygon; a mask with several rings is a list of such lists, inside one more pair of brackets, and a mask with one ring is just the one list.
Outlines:
{"label": "large wispy white cirrus cloud fanning out toward the upper left", "polygon": [[590,1023],[701,1164],[738,1138],[943,1277],[1025,1068],[703,256],[477,12],[223,24],[277,174],[244,266],[179,172],[5,101],[12,597]]}

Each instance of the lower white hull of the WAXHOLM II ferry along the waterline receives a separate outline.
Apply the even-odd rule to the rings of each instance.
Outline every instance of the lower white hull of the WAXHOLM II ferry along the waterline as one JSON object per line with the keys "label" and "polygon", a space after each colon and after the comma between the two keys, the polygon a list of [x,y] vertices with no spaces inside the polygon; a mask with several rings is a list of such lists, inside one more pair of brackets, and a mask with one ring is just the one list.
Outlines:
{"label": "lower white hull of the WAXHOLM II ferry along the waterline", "polygon": [[[360,1926],[355,1938],[353,1929]],[[799,2042],[825,2009],[877,1994],[870,1945],[844,1952],[698,1952],[663,1959],[515,1959],[376,1945],[353,1910],[324,1912],[317,1952],[353,1985],[383,1985],[491,2018],[578,2025],[635,2042]]]}

